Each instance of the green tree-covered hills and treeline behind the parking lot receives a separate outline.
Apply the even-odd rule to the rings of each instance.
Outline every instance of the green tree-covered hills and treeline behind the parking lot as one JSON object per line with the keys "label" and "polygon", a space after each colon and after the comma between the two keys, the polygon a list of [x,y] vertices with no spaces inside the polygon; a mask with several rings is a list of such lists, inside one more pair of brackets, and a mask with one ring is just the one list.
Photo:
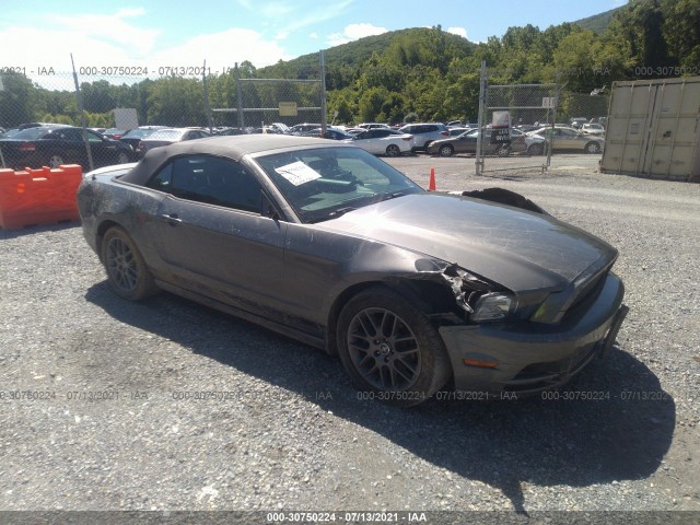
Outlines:
{"label": "green tree-covered hills and treeline behind the parking lot", "polygon": [[[602,33],[592,31],[599,28],[592,24],[606,18],[609,22]],[[700,0],[631,0],[597,20],[545,30],[529,24],[511,27],[479,44],[438,26],[337,46],[325,51],[328,114],[338,112],[338,122],[474,120],[482,60],[493,84],[557,82],[579,93],[616,80],[700,75]],[[315,79],[318,55],[260,69],[244,62],[240,72],[242,78]],[[80,121],[71,91],[40,89],[22,74],[2,80],[0,126]],[[212,74],[208,84],[211,107],[236,107],[233,73]],[[136,107],[140,121],[148,124],[207,122],[201,79],[168,77],[130,85],[102,80],[81,86],[91,126],[110,124],[114,107]],[[256,93],[256,103],[273,106],[283,100],[275,95],[273,89],[262,90]],[[314,105],[310,100],[300,103]],[[226,124],[235,121],[233,114],[219,117]]]}

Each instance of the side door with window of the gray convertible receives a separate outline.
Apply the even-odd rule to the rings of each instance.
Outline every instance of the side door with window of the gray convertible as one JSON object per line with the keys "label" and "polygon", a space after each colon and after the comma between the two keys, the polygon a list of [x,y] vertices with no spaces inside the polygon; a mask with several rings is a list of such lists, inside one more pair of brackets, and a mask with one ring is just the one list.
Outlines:
{"label": "side door with window of the gray convertible", "polygon": [[273,317],[283,280],[287,223],[262,215],[254,173],[212,155],[174,159],[149,182],[167,192],[158,210],[161,259],[170,281],[217,301]]}

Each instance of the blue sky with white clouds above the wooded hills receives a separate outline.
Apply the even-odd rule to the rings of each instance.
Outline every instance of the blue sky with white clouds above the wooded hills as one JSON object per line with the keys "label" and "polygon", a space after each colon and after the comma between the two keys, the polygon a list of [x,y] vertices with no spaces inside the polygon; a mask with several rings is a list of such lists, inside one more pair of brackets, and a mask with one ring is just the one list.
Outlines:
{"label": "blue sky with white clouds above the wooded hills", "polygon": [[[528,23],[546,28],[626,0],[3,1],[0,67],[256,67],[362,36],[440,24],[472,42]],[[16,43],[16,45],[9,45]]]}

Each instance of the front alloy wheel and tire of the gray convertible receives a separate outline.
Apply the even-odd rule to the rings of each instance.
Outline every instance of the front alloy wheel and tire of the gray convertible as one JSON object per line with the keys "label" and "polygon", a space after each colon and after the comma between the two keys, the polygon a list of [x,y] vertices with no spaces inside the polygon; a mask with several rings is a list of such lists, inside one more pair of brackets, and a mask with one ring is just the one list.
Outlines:
{"label": "front alloy wheel and tire of the gray convertible", "polygon": [[337,343],[361,399],[410,407],[450,380],[450,358],[435,327],[402,296],[383,287],[368,289],[348,302],[338,319]]}

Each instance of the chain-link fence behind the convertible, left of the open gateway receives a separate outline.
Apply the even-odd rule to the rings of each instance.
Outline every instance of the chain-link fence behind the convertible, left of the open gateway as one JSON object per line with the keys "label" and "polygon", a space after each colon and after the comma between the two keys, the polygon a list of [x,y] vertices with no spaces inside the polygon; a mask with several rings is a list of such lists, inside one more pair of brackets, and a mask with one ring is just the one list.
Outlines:
{"label": "chain-link fence behind the convertible, left of the open gateway", "polygon": [[[241,78],[201,68],[0,71],[0,165],[13,170],[80,164],[85,171],[138,161],[156,133],[178,141],[209,135],[325,126],[319,80]],[[46,126],[49,125],[49,126]],[[59,127],[57,125],[62,125]],[[71,126],[71,127],[67,127]],[[177,128],[178,132],[161,128]]]}

